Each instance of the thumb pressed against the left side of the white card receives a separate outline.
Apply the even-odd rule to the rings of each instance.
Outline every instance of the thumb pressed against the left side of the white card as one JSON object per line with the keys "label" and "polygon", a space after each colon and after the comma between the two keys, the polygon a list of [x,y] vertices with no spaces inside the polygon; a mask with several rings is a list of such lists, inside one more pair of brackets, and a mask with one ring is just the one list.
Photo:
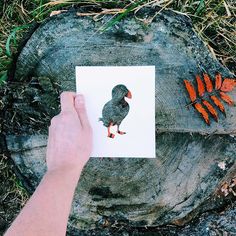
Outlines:
{"label": "thumb pressed against the left side of the white card", "polygon": [[84,100],[84,96],[82,94],[78,94],[75,97],[75,110],[79,116],[80,123],[81,123],[82,127],[84,127],[84,128],[90,127],[90,123],[88,120],[88,114],[87,114],[87,110],[85,107],[85,100]]}

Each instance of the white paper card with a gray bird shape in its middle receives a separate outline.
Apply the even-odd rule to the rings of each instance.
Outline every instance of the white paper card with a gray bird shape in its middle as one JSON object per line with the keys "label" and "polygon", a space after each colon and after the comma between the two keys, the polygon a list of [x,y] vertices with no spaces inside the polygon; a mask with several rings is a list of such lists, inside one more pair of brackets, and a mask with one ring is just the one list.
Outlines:
{"label": "white paper card with a gray bird shape in its middle", "polygon": [[[92,157],[155,158],[155,66],[77,66],[76,90],[85,96],[93,129]],[[126,133],[117,133],[112,120]]]}

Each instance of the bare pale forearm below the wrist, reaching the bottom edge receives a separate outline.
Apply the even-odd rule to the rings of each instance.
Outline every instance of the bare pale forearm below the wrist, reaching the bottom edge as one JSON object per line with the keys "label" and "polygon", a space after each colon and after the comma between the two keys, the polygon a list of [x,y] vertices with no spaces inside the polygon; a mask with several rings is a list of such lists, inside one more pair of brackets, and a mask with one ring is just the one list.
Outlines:
{"label": "bare pale forearm below the wrist, reaching the bottom edge", "polygon": [[81,170],[55,170],[46,173],[6,236],[65,235],[80,173]]}

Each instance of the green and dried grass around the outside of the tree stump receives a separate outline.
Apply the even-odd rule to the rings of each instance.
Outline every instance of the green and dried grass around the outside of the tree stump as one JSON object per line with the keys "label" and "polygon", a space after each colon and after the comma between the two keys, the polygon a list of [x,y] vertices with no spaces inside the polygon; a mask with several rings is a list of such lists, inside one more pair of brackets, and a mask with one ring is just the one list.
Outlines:
{"label": "green and dried grass around the outside of the tree stump", "polygon": [[[0,83],[7,80],[7,71],[17,52],[25,32],[33,22],[42,22],[52,11],[67,10],[76,6],[97,6],[103,14],[113,14],[111,21],[102,30],[120,21],[129,12],[146,5],[158,5],[189,16],[199,37],[212,55],[235,73],[236,62],[236,2],[235,0],[1,0],[0,1]],[[86,8],[85,8],[86,9]],[[91,8],[90,8],[91,9]],[[96,16],[98,12],[83,12]],[[3,102],[0,98],[0,105]],[[0,106],[1,112],[1,106]],[[0,126],[1,129],[1,126]],[[1,133],[1,130],[0,130]],[[4,155],[0,156],[0,178],[5,189],[0,192],[4,208],[17,212],[28,195],[16,178],[12,165]],[[2,216],[1,216],[2,215]],[[8,223],[14,217],[0,210],[0,216]],[[0,229],[1,234],[1,229]]]}

